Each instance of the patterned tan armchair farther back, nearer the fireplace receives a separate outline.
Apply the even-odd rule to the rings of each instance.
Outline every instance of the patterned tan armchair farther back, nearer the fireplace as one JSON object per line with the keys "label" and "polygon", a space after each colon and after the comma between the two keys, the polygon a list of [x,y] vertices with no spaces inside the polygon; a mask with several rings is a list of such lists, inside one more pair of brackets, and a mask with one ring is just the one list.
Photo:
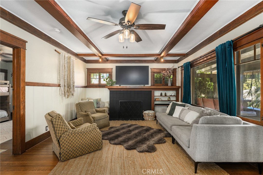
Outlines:
{"label": "patterned tan armchair farther back, nearer the fireplace", "polygon": [[98,128],[110,126],[109,115],[105,109],[95,109],[92,101],[76,104],[77,119],[83,118],[84,123],[96,123]]}

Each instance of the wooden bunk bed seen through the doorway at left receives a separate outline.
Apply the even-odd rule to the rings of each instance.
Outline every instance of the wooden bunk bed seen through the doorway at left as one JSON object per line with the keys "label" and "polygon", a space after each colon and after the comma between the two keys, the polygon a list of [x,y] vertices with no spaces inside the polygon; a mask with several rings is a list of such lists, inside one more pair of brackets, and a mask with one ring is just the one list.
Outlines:
{"label": "wooden bunk bed seen through the doorway at left", "polygon": [[0,122],[10,120],[11,84],[0,80]]}

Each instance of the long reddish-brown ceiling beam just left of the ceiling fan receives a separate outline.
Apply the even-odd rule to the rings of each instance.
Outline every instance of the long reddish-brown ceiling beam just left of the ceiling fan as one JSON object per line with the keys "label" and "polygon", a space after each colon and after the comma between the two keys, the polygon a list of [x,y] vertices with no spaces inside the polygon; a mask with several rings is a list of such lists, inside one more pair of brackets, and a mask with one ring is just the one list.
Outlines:
{"label": "long reddish-brown ceiling beam just left of the ceiling fan", "polygon": [[77,37],[85,46],[87,46],[95,55],[102,56],[102,52],[87,37],[87,35],[78,27],[78,25],[68,16],[68,14],[53,0],[35,0],[45,11],[53,16],[69,32]]}

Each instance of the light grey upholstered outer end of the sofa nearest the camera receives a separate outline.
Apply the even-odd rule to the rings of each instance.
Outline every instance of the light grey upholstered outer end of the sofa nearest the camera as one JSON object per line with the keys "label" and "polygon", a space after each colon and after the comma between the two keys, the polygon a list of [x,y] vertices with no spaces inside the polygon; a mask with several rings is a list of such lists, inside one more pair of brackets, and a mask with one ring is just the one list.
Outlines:
{"label": "light grey upholstered outer end of the sofa nearest the camera", "polygon": [[190,156],[196,162],[263,162],[263,127],[193,125]]}

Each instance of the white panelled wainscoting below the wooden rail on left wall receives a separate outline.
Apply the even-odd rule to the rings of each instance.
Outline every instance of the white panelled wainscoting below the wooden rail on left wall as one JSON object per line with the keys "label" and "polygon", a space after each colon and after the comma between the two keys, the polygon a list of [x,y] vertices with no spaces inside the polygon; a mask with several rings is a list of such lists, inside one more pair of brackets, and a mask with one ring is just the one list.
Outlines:
{"label": "white panelled wainscoting below the wooden rail on left wall", "polygon": [[[86,91],[90,91],[87,89],[90,88],[75,88],[74,97],[62,101],[59,96],[59,87],[26,86],[26,141],[47,132],[45,131],[47,122],[44,116],[52,110],[61,114],[66,121],[74,119],[75,104],[81,98],[88,97]],[[99,94],[104,94],[101,98],[106,99],[106,88],[100,89],[104,89],[104,91],[98,89],[99,92],[101,91]],[[97,96],[94,95],[94,97]]]}

